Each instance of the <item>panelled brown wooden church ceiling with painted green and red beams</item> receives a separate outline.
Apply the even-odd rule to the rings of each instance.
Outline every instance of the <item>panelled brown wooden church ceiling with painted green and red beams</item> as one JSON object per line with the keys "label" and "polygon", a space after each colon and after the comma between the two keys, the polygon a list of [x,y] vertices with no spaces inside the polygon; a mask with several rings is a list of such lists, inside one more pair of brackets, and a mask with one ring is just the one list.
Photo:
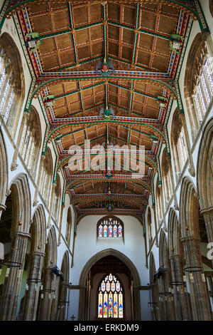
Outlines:
{"label": "panelled brown wooden church ceiling with painted green and red beams", "polygon": [[[190,24],[196,19],[192,1],[23,4],[16,5],[23,46],[27,33],[39,33],[40,46],[33,52],[25,46],[25,51],[33,69],[32,94],[40,97],[48,125],[43,153],[52,141],[58,153],[55,170],[62,170],[65,190],[77,212],[106,212],[111,202],[114,212],[140,215],[152,192],[154,174],[160,177],[162,143],[169,154],[165,124],[172,101],[178,98],[175,80]],[[170,48],[173,34],[181,36],[180,52]],[[102,71],[104,61],[108,72]],[[47,96],[54,96],[51,107],[45,105]],[[165,99],[163,107],[159,96]],[[113,109],[113,118],[99,116],[107,107]],[[104,171],[69,169],[70,146],[84,150],[84,140],[90,140],[91,146],[102,145],[107,136],[114,145],[144,145],[143,177],[132,179],[131,171],[124,168],[114,168],[110,178]],[[107,195],[108,185],[113,195]]]}

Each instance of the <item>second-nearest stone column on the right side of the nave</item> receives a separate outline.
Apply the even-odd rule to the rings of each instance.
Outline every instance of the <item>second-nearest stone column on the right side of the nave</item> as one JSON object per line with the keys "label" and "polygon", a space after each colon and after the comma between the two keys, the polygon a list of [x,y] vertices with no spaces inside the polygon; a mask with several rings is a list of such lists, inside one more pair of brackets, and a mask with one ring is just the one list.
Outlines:
{"label": "second-nearest stone column on the right side of the nave", "polygon": [[[183,282],[182,271],[182,257],[180,254],[170,256],[170,264],[172,268],[173,282]],[[180,287],[181,291],[178,292],[177,286],[173,286],[174,301],[175,301],[175,314],[177,321],[192,320],[190,301],[187,292],[184,292],[183,286]]]}

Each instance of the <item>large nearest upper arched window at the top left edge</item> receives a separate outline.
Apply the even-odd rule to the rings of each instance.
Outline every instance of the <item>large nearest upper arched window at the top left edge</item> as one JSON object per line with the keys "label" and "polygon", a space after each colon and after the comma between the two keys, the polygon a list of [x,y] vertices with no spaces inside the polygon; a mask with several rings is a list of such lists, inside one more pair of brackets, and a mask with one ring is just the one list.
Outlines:
{"label": "large nearest upper arched window at the top left edge", "polygon": [[7,33],[0,38],[0,115],[13,136],[24,97],[21,56]]}

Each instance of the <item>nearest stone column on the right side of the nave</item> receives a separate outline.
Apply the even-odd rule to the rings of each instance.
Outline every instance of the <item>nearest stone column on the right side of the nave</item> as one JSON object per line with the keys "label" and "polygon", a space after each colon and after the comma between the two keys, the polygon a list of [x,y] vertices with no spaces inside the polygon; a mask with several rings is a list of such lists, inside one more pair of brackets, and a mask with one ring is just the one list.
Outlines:
{"label": "nearest stone column on the right side of the nave", "polygon": [[[200,240],[188,236],[180,239],[183,245],[186,267],[202,267],[200,254]],[[192,315],[194,321],[211,321],[212,309],[210,306],[207,286],[202,282],[202,272],[192,272],[194,282],[190,282],[190,297],[192,301]]]}

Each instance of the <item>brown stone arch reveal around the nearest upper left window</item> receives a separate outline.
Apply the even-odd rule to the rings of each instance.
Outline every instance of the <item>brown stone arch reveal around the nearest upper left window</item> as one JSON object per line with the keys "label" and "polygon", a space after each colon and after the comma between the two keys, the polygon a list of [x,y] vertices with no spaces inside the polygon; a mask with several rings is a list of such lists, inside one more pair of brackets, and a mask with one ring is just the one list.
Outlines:
{"label": "brown stone arch reveal around the nearest upper left window", "polygon": [[21,113],[21,107],[25,96],[25,81],[23,74],[23,66],[21,61],[21,54],[18,51],[15,41],[9,33],[2,33],[0,37],[0,49],[4,50],[4,63],[6,63],[6,72],[11,76],[11,83],[15,93],[15,101],[12,105],[12,113],[9,115],[9,122],[7,123],[11,130],[11,135],[14,137],[18,125],[18,119]]}

